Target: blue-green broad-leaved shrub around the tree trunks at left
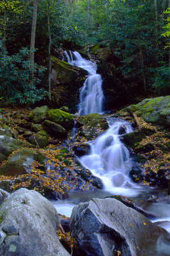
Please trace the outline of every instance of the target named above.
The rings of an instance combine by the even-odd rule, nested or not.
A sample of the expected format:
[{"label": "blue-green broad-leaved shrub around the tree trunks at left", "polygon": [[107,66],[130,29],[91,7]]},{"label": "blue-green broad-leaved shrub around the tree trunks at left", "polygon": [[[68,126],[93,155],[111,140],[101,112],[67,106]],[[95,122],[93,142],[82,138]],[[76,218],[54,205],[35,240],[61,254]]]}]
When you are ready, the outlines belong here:
[{"label": "blue-green broad-leaved shrub around the tree trunks at left", "polygon": [[22,48],[18,53],[10,56],[0,41],[0,97],[5,104],[33,104],[43,99],[44,90],[38,90],[36,85],[45,68],[34,65],[36,74],[32,84],[29,51]]}]

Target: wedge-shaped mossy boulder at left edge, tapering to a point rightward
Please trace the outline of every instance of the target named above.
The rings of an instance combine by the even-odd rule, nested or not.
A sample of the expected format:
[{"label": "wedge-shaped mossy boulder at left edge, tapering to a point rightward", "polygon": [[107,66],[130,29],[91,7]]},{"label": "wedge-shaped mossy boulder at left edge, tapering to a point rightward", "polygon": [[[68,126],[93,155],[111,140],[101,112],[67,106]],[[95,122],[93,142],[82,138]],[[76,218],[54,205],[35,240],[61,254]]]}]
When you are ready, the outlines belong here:
[{"label": "wedge-shaped mossy boulder at left edge, tapering to a point rightward", "polygon": [[3,154],[6,157],[10,156],[11,152],[14,150],[31,147],[34,147],[34,145],[25,141],[17,140],[9,136],[0,136],[0,154]]}]

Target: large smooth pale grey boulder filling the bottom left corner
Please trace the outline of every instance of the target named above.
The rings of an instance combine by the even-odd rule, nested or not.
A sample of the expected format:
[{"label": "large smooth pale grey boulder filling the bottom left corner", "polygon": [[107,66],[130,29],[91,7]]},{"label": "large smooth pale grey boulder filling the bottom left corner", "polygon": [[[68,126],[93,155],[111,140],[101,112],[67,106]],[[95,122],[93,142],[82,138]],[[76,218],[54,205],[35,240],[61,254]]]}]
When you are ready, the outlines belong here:
[{"label": "large smooth pale grey boulder filling the bottom left corner", "polygon": [[69,256],[57,237],[55,207],[36,191],[18,189],[0,208],[0,255]]}]

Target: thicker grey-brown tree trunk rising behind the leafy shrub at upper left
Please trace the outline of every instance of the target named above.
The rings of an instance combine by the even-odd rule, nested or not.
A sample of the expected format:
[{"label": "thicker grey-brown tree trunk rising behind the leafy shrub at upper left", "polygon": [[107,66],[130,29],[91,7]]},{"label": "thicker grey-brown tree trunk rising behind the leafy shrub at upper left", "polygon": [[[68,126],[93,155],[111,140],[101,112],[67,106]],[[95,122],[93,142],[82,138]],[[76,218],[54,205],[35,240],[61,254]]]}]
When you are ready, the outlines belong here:
[{"label": "thicker grey-brown tree trunk rising behind the leafy shrub at upper left", "polygon": [[[31,68],[34,67],[34,49],[35,49],[35,40],[36,40],[36,20],[37,20],[37,10],[38,10],[38,1],[34,0],[33,3],[33,14],[32,14],[32,29],[31,29],[31,46],[30,46],[30,62]],[[33,83],[34,71],[32,71],[31,81]]]}]

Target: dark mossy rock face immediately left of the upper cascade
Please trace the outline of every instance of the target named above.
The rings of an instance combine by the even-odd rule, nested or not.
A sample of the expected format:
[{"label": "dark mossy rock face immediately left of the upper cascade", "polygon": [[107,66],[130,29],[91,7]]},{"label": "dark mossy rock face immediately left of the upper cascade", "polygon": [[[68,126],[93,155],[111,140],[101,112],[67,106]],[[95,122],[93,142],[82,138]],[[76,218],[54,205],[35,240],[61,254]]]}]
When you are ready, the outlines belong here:
[{"label": "dark mossy rock face immediately left of the upper cascade", "polygon": [[52,106],[67,106],[76,112],[79,88],[83,86],[87,71],[73,67],[52,56]]}]

